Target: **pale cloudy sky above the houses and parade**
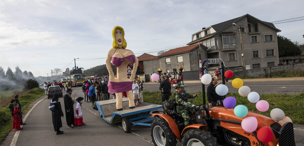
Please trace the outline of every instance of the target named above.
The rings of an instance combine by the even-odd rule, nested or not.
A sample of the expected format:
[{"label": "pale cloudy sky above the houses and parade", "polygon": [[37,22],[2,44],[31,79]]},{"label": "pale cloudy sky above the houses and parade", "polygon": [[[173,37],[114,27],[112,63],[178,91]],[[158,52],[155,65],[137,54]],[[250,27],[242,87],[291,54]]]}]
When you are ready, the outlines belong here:
[{"label": "pale cloudy sky above the houses and parade", "polygon": [[[267,22],[303,17],[302,6],[303,0],[1,0],[0,66],[50,76],[79,58],[76,66],[89,69],[105,64],[115,26],[125,30],[126,49],[156,55],[186,45],[203,27],[245,14]],[[303,22],[275,24],[277,34],[303,44]]]}]

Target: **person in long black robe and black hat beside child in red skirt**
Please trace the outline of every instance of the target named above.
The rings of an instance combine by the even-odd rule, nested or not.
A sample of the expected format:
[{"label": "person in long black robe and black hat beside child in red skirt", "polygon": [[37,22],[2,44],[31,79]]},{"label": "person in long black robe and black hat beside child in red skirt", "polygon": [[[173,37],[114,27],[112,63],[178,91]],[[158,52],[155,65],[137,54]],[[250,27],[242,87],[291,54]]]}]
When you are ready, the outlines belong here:
[{"label": "person in long black robe and black hat beside child in red skirt", "polygon": [[72,89],[68,88],[67,93],[64,95],[63,100],[64,100],[64,108],[65,108],[65,118],[67,120],[68,128],[73,128],[73,126],[78,126],[74,125],[74,107],[73,104],[75,103],[71,97],[72,95]]}]

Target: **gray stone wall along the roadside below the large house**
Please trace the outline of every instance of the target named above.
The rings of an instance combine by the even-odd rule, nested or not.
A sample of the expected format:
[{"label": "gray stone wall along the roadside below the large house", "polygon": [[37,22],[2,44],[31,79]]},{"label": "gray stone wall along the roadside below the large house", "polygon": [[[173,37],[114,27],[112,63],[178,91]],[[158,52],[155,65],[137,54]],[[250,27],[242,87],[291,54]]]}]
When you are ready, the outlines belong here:
[{"label": "gray stone wall along the roadside below the large house", "polygon": [[[247,70],[247,75],[251,77],[265,77],[267,74],[271,74],[271,72],[276,72],[281,70],[298,70],[298,69],[304,69],[304,63],[280,65],[280,66],[266,67],[259,69],[249,69]],[[231,71],[237,77],[244,76],[243,68],[235,68],[235,69],[231,69]]]}]

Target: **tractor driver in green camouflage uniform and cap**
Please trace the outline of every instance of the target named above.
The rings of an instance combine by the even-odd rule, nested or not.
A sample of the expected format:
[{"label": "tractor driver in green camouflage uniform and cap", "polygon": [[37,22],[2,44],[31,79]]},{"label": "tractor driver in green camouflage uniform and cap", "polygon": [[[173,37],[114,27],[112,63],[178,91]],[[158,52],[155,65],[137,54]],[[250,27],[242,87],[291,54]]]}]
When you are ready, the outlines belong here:
[{"label": "tractor driver in green camouflage uniform and cap", "polygon": [[190,104],[188,98],[197,98],[198,94],[190,95],[184,90],[184,85],[178,83],[174,88],[177,89],[175,95],[175,102],[177,104],[176,111],[184,118],[184,126],[188,126],[190,122],[189,113],[194,112],[195,109],[191,107],[195,106]]}]

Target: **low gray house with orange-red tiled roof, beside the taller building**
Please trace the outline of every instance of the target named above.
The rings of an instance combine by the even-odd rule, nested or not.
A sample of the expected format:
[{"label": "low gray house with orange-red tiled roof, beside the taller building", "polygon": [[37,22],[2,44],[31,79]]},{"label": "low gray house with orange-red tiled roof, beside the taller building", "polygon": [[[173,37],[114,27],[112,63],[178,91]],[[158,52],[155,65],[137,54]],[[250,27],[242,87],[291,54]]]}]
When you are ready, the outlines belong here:
[{"label": "low gray house with orange-red tiled roof, beside the taller building", "polygon": [[189,46],[171,49],[159,55],[160,68],[163,72],[179,72],[178,68],[183,67],[183,71],[198,71],[199,60],[207,58],[207,47],[198,43]]}]

